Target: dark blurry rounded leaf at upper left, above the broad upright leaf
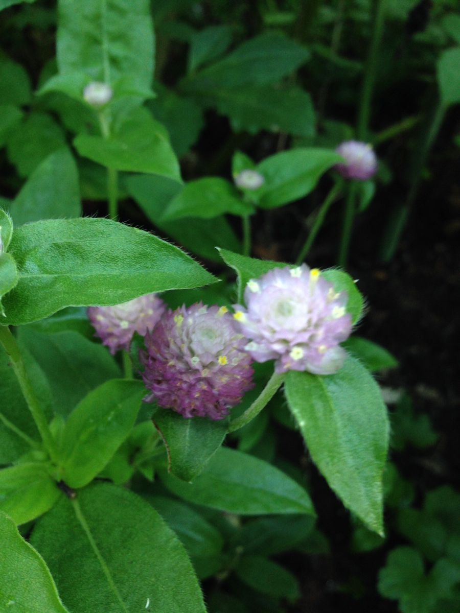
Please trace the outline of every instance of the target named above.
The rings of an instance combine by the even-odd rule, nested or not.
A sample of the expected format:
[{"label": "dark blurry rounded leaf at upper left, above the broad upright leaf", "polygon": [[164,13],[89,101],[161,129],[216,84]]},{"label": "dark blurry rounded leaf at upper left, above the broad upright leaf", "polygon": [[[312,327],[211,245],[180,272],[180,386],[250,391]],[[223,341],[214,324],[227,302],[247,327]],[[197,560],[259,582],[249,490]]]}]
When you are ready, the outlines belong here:
[{"label": "dark blurry rounded leaf at upper left, above the broad upright leaf", "polygon": [[7,138],[9,161],[28,177],[50,153],[66,145],[64,131],[47,113],[30,113]]}]

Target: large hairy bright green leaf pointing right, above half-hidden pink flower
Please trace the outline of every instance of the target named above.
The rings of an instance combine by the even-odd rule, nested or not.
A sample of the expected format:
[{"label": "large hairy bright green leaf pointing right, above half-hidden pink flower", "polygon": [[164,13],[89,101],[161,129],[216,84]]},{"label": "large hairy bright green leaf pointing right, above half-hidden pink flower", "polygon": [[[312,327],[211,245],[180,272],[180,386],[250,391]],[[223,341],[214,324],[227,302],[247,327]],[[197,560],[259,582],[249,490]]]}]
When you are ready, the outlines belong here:
[{"label": "large hairy bright green leaf pointing right, above half-hidden pink flower", "polygon": [[109,219],[36,221],[13,232],[19,270],[3,324],[19,326],[64,307],[114,305],[215,278],[176,247]]}]

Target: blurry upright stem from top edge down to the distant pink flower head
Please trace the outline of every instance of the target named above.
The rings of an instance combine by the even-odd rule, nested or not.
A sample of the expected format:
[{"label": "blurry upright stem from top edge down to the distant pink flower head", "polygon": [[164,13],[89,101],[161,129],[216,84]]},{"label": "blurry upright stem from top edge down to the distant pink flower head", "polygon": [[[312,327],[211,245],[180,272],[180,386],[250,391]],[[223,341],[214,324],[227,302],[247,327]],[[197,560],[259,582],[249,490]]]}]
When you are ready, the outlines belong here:
[{"label": "blurry upright stem from top edge down to the distant pink flower head", "polygon": [[386,0],[374,0],[372,32],[370,34],[369,52],[367,54],[366,67],[364,69],[364,80],[361,88],[361,100],[358,112],[358,140],[367,139],[369,129],[370,109],[372,104],[372,94],[374,93],[375,73],[379,57],[379,48],[383,26],[385,24]]}]

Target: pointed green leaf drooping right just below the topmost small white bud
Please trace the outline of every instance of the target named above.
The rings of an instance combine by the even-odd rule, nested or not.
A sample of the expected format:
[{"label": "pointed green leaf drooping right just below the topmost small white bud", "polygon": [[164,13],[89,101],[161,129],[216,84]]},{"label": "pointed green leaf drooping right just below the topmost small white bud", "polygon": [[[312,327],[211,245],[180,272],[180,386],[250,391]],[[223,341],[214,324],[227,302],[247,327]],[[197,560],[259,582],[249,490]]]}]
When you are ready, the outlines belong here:
[{"label": "pointed green leaf drooping right just below the topmost small white bud", "polygon": [[181,181],[167,132],[147,109],[134,109],[109,138],[79,134],[74,146],[83,158],[107,168],[151,172]]}]

